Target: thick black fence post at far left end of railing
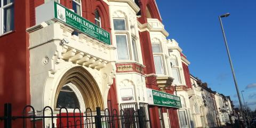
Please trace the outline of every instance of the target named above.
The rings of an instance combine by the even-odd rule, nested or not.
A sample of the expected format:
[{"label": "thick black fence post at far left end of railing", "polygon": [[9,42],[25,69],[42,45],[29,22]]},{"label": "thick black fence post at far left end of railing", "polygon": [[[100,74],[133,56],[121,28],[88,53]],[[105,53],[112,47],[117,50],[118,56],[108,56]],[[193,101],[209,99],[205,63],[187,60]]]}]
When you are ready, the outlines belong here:
[{"label": "thick black fence post at far left end of railing", "polygon": [[12,105],[11,103],[4,104],[4,128],[12,127]]}]

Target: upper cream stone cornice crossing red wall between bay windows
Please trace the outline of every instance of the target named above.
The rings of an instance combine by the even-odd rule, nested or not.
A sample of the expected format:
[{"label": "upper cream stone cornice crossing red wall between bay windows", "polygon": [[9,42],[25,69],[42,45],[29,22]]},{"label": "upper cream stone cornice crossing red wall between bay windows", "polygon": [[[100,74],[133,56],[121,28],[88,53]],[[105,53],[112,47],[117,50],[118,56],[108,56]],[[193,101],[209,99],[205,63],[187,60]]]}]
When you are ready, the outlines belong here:
[{"label": "upper cream stone cornice crossing red wall between bay windows", "polygon": [[164,28],[153,28],[149,23],[141,24],[139,21],[137,21],[137,24],[140,31],[160,31],[164,36],[169,36],[169,33]]}]

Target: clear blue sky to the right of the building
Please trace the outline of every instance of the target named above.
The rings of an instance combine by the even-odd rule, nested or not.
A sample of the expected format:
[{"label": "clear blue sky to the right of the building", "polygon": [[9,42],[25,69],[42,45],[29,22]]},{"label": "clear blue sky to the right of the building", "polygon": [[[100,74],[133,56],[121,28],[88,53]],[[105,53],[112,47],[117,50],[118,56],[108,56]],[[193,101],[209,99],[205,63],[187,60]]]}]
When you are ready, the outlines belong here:
[{"label": "clear blue sky to the right of the building", "polygon": [[[191,62],[190,74],[212,90],[230,95],[238,105],[218,16],[222,18],[239,91],[256,109],[256,1],[156,0],[169,38],[174,38]],[[246,86],[248,86],[246,88]],[[241,93],[240,93],[241,94]],[[241,95],[242,98],[242,95]],[[243,101],[242,101],[243,102]]]}]

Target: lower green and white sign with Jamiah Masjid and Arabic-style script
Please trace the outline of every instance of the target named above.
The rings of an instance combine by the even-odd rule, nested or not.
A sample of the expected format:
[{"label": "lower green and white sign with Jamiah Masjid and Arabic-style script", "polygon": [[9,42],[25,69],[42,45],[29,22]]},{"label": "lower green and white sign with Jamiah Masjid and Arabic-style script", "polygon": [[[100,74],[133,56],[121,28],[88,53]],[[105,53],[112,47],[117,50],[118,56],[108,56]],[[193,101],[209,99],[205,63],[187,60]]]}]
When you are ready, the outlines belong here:
[{"label": "lower green and white sign with Jamiah Masjid and Arabic-style script", "polygon": [[180,97],[169,93],[147,89],[148,104],[181,108]]}]

